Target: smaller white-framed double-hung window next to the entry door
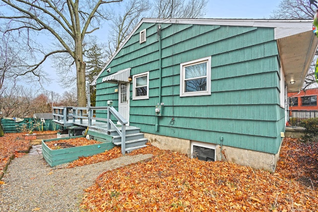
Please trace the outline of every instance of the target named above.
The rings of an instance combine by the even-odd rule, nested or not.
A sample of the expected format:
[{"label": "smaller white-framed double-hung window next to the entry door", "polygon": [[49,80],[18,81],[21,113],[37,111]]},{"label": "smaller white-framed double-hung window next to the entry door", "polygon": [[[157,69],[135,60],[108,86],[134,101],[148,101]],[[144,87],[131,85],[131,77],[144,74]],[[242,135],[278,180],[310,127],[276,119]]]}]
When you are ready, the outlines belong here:
[{"label": "smaller white-framed double-hung window next to the entry door", "polygon": [[133,99],[149,99],[149,71],[133,76]]}]

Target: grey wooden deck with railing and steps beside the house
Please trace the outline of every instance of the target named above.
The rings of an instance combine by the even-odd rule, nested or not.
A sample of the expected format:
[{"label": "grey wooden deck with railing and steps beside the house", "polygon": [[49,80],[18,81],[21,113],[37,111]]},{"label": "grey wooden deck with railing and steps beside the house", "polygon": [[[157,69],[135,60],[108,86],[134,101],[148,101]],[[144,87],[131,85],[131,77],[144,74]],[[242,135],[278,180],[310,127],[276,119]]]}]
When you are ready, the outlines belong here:
[{"label": "grey wooden deck with railing and steps beside the house", "polygon": [[[107,118],[96,117],[96,111],[104,113]],[[148,141],[140,132],[140,128],[126,126],[128,125],[127,120],[112,106],[53,107],[52,121],[63,126],[64,129],[68,128],[69,136],[76,135],[78,132],[75,130],[82,131],[86,128],[86,133],[95,140],[111,141],[115,145],[120,145],[122,154],[145,147]],[[76,129],[77,127],[81,129]]]}]

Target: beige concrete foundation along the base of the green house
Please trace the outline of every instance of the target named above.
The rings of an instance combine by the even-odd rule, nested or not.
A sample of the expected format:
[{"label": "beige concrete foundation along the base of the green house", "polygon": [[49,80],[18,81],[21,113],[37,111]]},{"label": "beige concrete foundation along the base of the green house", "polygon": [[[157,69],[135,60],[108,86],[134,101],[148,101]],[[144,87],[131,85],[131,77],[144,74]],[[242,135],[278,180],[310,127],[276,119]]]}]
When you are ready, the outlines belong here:
[{"label": "beige concrete foundation along the base of the green house", "polygon": [[[145,133],[145,138],[148,141],[160,148],[171,151],[177,151],[191,156],[191,141],[185,139],[178,139],[166,136],[159,136]],[[281,147],[280,147],[281,148]],[[216,160],[230,161],[243,166],[250,166],[254,169],[263,169],[271,173],[275,172],[276,164],[279,159],[279,152],[277,154],[241,149],[231,146],[216,145],[215,156]]]}]

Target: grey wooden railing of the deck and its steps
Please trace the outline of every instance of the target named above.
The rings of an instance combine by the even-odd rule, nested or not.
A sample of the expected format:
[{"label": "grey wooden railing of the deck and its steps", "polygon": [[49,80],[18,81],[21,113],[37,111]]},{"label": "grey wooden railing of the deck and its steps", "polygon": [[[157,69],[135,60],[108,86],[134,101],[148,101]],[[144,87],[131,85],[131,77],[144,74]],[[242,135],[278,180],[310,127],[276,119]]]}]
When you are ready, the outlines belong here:
[{"label": "grey wooden railing of the deck and its steps", "polygon": [[[95,117],[96,111],[107,111],[107,118]],[[115,117],[121,124],[121,130],[114,124],[111,117]],[[92,121],[99,121],[107,123],[107,131],[114,129],[121,137],[121,151],[125,154],[125,143],[126,143],[126,124],[127,120],[113,106],[106,107],[53,107],[53,120],[66,126],[70,124],[84,125],[84,120],[87,120],[87,127],[93,126]],[[79,121],[78,121],[79,120]]]}]

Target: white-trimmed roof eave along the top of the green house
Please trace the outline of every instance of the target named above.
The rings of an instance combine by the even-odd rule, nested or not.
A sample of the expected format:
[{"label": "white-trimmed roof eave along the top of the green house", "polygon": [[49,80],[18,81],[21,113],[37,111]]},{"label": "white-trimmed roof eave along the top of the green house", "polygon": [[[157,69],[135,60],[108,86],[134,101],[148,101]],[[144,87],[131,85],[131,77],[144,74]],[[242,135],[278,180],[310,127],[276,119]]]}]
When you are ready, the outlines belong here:
[{"label": "white-trimmed roof eave along the top of the green house", "polygon": [[[122,47],[127,43],[127,41],[132,37],[132,35],[136,32],[136,30],[144,23],[179,23],[179,24],[206,24],[206,25],[228,25],[228,26],[252,26],[252,27],[271,27],[275,30],[275,40],[277,40],[280,54],[287,54],[287,52],[283,49],[285,45],[284,39],[293,39],[293,36],[298,37],[298,41],[300,37],[306,35],[306,45],[303,48],[308,48],[308,52],[306,54],[305,60],[303,62],[303,68],[301,70],[301,74],[297,77],[297,83],[293,86],[289,86],[289,91],[295,90],[295,86],[297,85],[297,92],[301,89],[302,83],[305,80],[306,74],[309,70],[312,59],[317,50],[318,41],[317,38],[314,37],[312,33],[312,22],[313,20],[275,20],[275,19],[157,19],[157,18],[143,18],[138,25],[134,28],[134,30],[130,33],[128,38],[123,42],[120,48],[114,53],[114,55],[110,58],[110,60],[106,63],[105,67],[98,73],[98,75],[91,82],[91,85],[96,85],[98,77],[101,75],[103,71],[108,68],[111,61],[116,57],[118,52],[122,49]],[[310,39],[308,38],[309,33],[311,33]],[[290,40],[289,39],[289,40]],[[310,44],[310,45],[308,45]],[[295,43],[294,45],[300,45],[300,43]],[[291,48],[289,48],[291,49]],[[290,75],[290,71],[288,71],[289,60],[282,60],[282,66],[286,75],[286,82],[292,79]],[[300,87],[300,88],[299,88]],[[296,91],[295,91],[296,92]]]}]

